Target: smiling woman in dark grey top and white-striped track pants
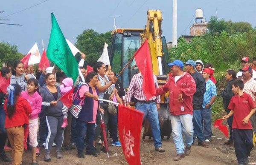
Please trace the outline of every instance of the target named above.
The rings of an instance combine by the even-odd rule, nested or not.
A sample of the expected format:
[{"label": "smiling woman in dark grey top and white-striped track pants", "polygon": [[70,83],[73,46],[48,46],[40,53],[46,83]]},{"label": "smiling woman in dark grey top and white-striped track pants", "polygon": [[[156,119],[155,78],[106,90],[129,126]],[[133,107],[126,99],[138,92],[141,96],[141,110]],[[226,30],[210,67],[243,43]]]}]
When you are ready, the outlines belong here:
[{"label": "smiling woman in dark grey top and white-striped track pants", "polygon": [[48,136],[45,144],[45,155],[44,161],[51,161],[50,151],[53,142],[56,143],[56,158],[62,158],[61,155],[61,145],[63,142],[63,131],[61,128],[63,122],[62,116],[62,102],[59,100],[61,98],[61,89],[56,83],[55,75],[48,73],[45,75],[45,81],[47,85],[44,85],[40,89],[42,97],[42,110],[46,113],[46,121],[48,127]]}]

